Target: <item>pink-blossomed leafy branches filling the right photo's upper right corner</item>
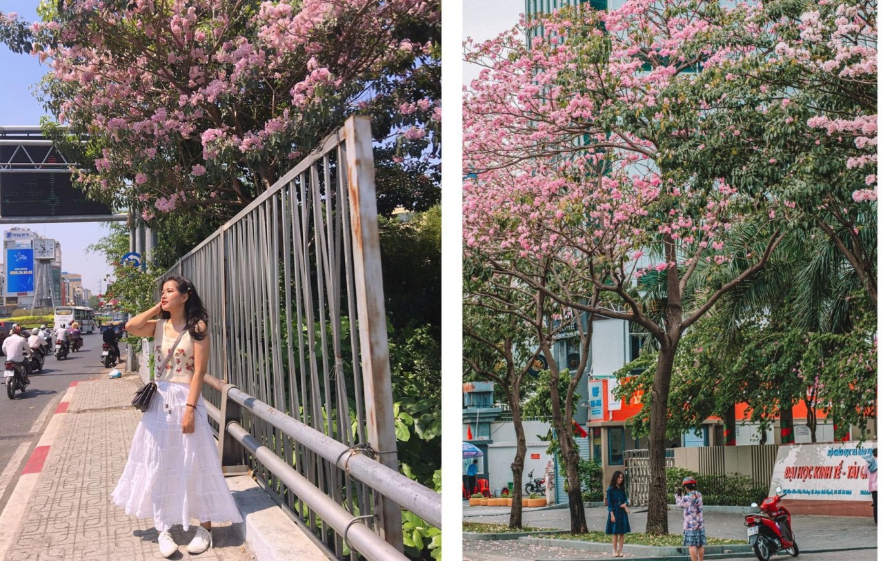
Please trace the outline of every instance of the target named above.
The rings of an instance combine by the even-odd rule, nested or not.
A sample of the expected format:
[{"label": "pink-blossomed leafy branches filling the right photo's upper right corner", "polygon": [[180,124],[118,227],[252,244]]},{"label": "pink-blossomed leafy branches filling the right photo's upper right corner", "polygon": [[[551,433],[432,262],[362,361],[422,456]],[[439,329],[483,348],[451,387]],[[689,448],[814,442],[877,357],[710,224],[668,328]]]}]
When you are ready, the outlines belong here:
[{"label": "pink-blossomed leafy branches filling the right photo's upper right corner", "polygon": [[877,216],[876,8],[826,0],[732,11],[711,40],[741,54],[692,82],[686,95],[708,110],[670,150],[704,180],[788,201],[789,228],[823,231],[873,302],[876,236],[862,231]]}]

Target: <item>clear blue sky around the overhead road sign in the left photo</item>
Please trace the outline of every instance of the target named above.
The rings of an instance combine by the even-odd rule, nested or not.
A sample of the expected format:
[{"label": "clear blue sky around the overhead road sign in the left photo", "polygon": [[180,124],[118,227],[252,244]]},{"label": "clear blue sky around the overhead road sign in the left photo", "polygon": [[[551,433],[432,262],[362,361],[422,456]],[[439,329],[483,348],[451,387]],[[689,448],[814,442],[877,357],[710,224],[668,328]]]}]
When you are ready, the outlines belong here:
[{"label": "clear blue sky around the overhead road sign in the left photo", "polygon": [[[39,0],[0,0],[0,11],[16,11],[26,21],[37,19]],[[34,84],[49,72],[30,55],[17,55],[0,44],[0,126],[39,125],[47,115],[34,98]],[[0,224],[0,231],[19,225],[23,228],[57,239],[62,247],[62,268],[83,276],[83,287],[93,293],[104,289],[104,277],[110,268],[103,256],[86,254],[86,246],[107,235],[107,229],[98,223],[76,224]]]}]

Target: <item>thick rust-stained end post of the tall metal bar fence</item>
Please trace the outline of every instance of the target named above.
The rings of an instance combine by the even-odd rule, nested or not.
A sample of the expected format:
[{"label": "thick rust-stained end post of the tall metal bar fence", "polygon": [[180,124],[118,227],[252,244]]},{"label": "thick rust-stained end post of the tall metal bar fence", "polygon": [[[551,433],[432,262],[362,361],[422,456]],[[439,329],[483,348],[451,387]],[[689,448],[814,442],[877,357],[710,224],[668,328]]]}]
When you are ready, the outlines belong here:
[{"label": "thick rust-stained end post of the tall metal bar fence", "polygon": [[[383,452],[378,457],[381,464],[398,471],[371,122],[366,117],[351,117],[346,120],[343,130],[346,135],[346,178],[350,195],[352,261],[365,381],[368,442],[375,450]],[[378,531],[390,545],[404,550],[399,505],[380,493],[374,493],[374,500]]]}]

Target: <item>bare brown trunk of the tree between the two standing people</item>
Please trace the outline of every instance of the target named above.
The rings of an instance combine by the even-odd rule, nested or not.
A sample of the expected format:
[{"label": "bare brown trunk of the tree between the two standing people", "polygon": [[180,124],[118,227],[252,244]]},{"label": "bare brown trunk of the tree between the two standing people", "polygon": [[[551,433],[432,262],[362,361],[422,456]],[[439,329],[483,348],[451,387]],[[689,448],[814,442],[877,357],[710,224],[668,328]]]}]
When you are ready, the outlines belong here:
[{"label": "bare brown trunk of the tree between the two standing people", "polygon": [[647,501],[647,534],[668,534],[665,493],[665,435],[668,425],[668,391],[676,345],[660,346],[659,361],[650,394],[650,497]]}]

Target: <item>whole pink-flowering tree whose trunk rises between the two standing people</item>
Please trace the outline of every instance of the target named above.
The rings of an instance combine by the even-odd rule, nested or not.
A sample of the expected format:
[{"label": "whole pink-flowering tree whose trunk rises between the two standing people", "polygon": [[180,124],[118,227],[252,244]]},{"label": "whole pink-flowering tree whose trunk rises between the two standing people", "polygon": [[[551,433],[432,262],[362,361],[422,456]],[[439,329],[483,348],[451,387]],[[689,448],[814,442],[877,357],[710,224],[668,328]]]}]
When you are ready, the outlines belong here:
[{"label": "whole pink-flowering tree whose trunk rises between the two standing people", "polygon": [[[774,73],[776,47],[740,40],[781,32],[774,9],[765,10],[630,0],[599,12],[584,4],[523,20],[481,45],[467,42],[467,59],[485,67],[464,102],[464,164],[477,177],[464,185],[467,253],[534,288],[540,263],[554,256],[559,277],[543,287],[551,298],[638,323],[659,345],[648,396],[649,533],[668,529],[666,406],[684,330],[763,269],[807,213],[824,209],[793,196],[793,182],[759,180],[776,165],[772,157],[761,166],[745,156],[762,145],[770,118],[753,118],[758,130],[746,133],[743,115],[789,107],[757,97],[768,93],[763,80],[726,80],[736,64]],[[825,135],[820,122],[806,118],[802,128]],[[875,131],[863,131],[864,143],[819,146],[841,158],[841,170],[857,170],[851,153],[875,141]],[[817,180],[806,188],[824,191],[824,171],[811,173]],[[844,187],[849,197],[838,202],[869,204],[867,194],[852,196],[865,181]],[[602,294],[595,305],[586,297],[592,289]]]}]

